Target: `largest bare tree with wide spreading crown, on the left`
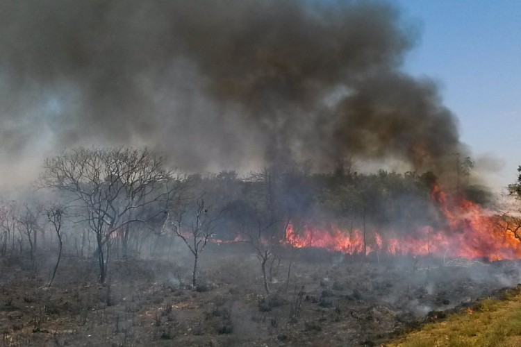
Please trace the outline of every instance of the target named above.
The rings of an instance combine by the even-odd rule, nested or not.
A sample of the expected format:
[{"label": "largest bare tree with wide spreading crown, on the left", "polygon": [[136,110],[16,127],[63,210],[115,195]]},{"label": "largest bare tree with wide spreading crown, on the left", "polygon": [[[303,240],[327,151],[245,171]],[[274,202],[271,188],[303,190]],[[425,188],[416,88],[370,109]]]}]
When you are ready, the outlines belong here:
[{"label": "largest bare tree with wide spreading crown, on the left", "polygon": [[85,149],[47,158],[40,186],[69,193],[77,222],[87,223],[97,242],[99,280],[105,282],[110,239],[122,237],[131,223],[164,213],[182,179],[165,167],[165,159],[147,149]]}]

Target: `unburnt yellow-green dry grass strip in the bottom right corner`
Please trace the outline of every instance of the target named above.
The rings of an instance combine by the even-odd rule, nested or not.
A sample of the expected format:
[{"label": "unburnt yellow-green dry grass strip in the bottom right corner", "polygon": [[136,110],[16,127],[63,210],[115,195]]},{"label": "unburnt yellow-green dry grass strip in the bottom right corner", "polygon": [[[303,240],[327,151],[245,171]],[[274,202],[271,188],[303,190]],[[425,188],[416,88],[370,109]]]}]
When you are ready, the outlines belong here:
[{"label": "unburnt yellow-green dry grass strip in the bottom right corner", "polygon": [[521,346],[521,291],[501,300],[483,300],[445,321],[422,325],[387,346]]}]

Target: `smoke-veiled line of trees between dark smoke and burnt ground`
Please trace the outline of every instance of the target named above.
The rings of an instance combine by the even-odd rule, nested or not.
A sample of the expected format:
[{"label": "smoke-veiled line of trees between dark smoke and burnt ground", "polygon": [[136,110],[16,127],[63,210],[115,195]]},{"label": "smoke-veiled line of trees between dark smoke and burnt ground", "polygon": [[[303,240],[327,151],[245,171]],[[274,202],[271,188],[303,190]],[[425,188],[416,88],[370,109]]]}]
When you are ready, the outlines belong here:
[{"label": "smoke-veiled line of trees between dark smoke and burnt ground", "polygon": [[[168,254],[165,247],[177,237],[194,256],[197,285],[199,255],[208,242],[240,237],[258,255],[269,291],[267,266],[284,245],[289,223],[297,233],[309,225],[356,228],[363,230],[364,243],[366,230],[385,236],[386,230],[436,226],[443,223],[430,196],[436,184],[431,172],[357,174],[339,168],[317,174],[306,164],[245,176],[188,175],[147,149],[72,149],[45,160],[38,198],[3,201],[0,256],[28,255],[36,267],[40,247],[60,255],[63,248],[94,257],[104,282],[110,259],[158,255],[158,249]],[[486,197],[472,187],[462,192]],[[374,242],[367,234],[367,243]],[[58,264],[59,257],[55,273]]]}]

